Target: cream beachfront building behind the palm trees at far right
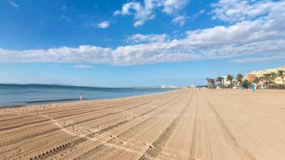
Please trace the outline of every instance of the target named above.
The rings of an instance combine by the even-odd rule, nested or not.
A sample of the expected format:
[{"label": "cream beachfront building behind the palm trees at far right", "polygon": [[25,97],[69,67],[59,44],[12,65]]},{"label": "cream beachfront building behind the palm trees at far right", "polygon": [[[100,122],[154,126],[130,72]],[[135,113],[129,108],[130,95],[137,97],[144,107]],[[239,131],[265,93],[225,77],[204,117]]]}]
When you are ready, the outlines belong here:
[{"label": "cream beachfront building behind the palm trees at far right", "polygon": [[[278,70],[282,70],[285,73],[285,65],[280,67],[280,68],[270,68],[270,69],[252,71],[251,73],[249,73],[245,77],[247,78],[247,80],[249,80],[249,82],[253,82],[256,78],[259,78],[260,79],[259,83],[261,85],[264,85],[264,82],[266,82],[266,78],[264,78],[265,75],[270,75],[271,73],[278,74]],[[277,76],[272,81],[276,85],[282,85],[283,84],[283,79],[281,78],[281,76]]]}]

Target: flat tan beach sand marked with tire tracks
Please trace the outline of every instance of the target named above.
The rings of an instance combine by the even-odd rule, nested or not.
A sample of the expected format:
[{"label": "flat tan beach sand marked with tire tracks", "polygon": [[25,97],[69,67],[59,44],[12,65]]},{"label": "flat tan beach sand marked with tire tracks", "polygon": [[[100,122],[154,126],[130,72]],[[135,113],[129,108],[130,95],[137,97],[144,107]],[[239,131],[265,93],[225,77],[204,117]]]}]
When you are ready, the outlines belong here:
[{"label": "flat tan beach sand marked with tire tracks", "polygon": [[284,90],[180,90],[0,110],[0,159],[285,159]]}]

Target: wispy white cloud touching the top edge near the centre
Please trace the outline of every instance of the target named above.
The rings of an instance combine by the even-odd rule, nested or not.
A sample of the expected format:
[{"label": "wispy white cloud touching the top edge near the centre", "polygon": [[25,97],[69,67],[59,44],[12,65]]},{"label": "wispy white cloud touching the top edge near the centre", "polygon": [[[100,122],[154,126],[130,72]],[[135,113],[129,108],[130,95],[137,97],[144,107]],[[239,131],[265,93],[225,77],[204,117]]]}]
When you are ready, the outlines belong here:
[{"label": "wispy white cloud touching the top edge near the centre", "polygon": [[187,4],[188,0],[144,0],[143,4],[137,1],[123,4],[121,10],[114,15],[135,15],[134,26],[143,25],[146,21],[155,18],[155,9],[161,9],[166,14],[177,14]]}]

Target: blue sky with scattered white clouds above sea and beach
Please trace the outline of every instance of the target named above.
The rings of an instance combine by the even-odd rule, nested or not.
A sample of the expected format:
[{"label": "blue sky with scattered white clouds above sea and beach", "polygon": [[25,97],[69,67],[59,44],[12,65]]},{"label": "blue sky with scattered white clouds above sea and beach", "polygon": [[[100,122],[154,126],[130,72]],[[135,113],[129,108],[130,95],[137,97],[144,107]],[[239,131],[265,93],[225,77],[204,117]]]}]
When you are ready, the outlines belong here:
[{"label": "blue sky with scattered white clouds above sea and beach", "polygon": [[285,1],[0,1],[0,82],[201,85],[285,63]]}]

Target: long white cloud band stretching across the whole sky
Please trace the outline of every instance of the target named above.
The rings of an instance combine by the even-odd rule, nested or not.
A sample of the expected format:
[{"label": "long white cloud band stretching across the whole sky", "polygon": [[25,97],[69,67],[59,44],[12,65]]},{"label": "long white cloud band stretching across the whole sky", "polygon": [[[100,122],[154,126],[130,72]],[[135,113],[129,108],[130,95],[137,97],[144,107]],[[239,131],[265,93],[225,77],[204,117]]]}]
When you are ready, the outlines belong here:
[{"label": "long white cloud band stretching across the whole sky", "polygon": [[180,39],[170,39],[163,34],[137,34],[129,40],[140,44],[117,48],[0,49],[0,61],[143,65],[214,58],[242,59],[244,56],[252,60],[285,57],[285,7],[284,1],[278,3],[263,16],[229,26],[187,31],[187,36]]}]

